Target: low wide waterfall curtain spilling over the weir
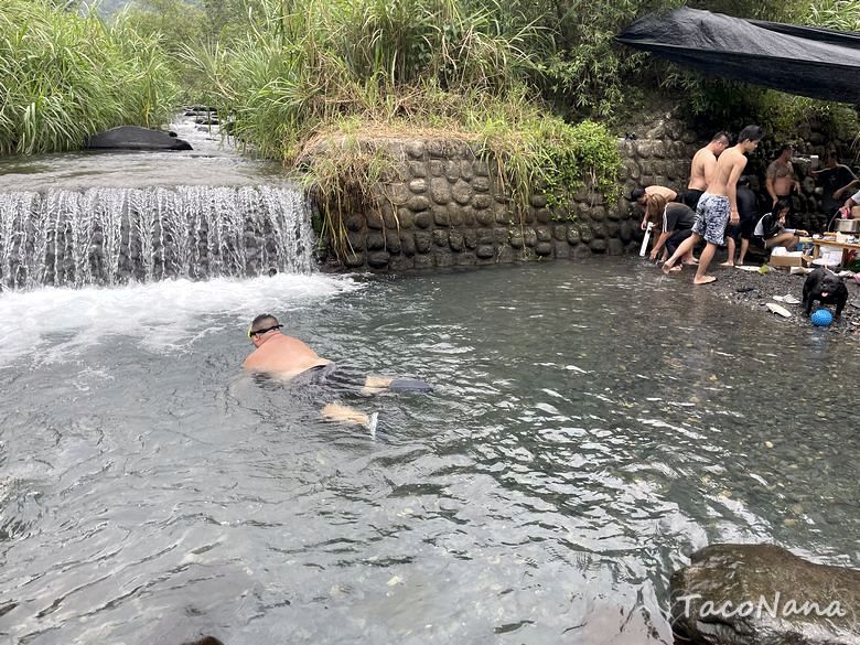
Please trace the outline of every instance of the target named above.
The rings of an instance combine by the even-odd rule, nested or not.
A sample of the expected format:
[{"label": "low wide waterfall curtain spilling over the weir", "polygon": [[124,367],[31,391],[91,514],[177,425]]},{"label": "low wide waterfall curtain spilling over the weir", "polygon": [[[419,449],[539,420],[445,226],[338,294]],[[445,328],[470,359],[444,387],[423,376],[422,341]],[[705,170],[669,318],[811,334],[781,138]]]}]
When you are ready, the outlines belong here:
[{"label": "low wide waterfall curtain spilling over the weir", "polygon": [[313,230],[289,187],[0,193],[0,283],[82,287],[307,273]]}]

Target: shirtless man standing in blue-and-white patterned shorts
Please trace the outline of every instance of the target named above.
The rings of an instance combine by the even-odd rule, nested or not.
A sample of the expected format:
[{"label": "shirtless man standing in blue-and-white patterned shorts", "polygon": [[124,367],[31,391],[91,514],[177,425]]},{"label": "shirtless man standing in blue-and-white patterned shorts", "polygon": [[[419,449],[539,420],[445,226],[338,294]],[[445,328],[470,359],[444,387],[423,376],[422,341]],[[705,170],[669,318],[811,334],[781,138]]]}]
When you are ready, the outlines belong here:
[{"label": "shirtless man standing in blue-and-white patterned shorts", "polygon": [[725,225],[729,222],[732,224],[740,222],[735,194],[738,179],[743,173],[743,169],[746,168],[745,155],[755,150],[762,137],[764,137],[764,131],[759,126],[746,126],[738,135],[738,143],[720,154],[708,191],[701,196],[696,208],[696,224],[692,226],[692,235],[685,239],[663,265],[665,273],[680,270],[680,267],[675,269],[675,262],[692,249],[701,238],[705,238],[707,244],[699,257],[699,267],[692,283],[709,284],[717,280],[714,276],[708,276],[708,265],[711,264],[717,247],[723,244]]}]

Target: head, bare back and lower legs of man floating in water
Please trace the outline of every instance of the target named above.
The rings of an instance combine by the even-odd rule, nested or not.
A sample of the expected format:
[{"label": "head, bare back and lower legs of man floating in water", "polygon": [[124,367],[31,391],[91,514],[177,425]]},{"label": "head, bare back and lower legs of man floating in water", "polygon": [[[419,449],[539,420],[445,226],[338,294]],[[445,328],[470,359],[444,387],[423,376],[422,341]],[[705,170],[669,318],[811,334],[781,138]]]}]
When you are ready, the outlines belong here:
[{"label": "head, bare back and lower legs of man floating in water", "polygon": [[[278,319],[262,313],[251,321],[248,337],[256,347],[243,362],[244,369],[261,372],[275,378],[287,381],[299,375],[318,375],[324,378],[334,369],[334,363],[323,358],[299,338],[282,333],[283,327]],[[389,378],[367,376],[364,381],[365,393],[377,393],[385,389],[429,391],[431,387],[422,380],[409,378]],[[345,421],[372,427],[375,415],[365,415],[353,408],[338,404],[329,404],[322,410],[323,416],[332,421]]]}]

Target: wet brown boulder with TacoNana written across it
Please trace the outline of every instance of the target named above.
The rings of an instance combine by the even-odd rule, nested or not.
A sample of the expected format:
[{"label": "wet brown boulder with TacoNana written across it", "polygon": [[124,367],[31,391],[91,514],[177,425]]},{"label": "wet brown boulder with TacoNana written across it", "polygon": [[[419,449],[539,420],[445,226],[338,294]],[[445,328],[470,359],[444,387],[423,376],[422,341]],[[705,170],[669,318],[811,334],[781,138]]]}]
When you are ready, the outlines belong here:
[{"label": "wet brown boulder with TacoNana written across it", "polygon": [[713,545],[671,576],[677,643],[860,645],[860,571],[773,545]]}]

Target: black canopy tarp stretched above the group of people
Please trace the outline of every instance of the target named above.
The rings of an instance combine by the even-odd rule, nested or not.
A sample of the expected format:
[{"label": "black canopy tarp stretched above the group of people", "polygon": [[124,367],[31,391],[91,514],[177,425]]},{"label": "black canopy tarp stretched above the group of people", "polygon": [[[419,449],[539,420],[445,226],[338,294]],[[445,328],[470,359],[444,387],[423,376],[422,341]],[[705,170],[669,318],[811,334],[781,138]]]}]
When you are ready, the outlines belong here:
[{"label": "black canopy tarp stretched above the group of people", "polygon": [[682,8],[648,14],[619,42],[706,74],[860,105],[860,34]]}]

